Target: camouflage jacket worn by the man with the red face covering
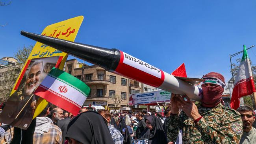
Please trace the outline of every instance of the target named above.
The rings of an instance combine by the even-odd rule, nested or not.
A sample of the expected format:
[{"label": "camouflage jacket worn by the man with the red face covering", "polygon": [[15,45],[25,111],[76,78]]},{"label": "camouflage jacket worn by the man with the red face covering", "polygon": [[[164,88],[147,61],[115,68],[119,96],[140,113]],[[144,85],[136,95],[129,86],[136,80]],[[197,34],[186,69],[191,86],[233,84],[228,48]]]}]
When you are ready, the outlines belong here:
[{"label": "camouflage jacket worn by the man with the red face covering", "polygon": [[167,137],[175,142],[182,129],[182,142],[187,144],[239,144],[243,133],[240,114],[221,103],[214,108],[197,106],[203,116],[196,124],[183,111],[167,120]]}]

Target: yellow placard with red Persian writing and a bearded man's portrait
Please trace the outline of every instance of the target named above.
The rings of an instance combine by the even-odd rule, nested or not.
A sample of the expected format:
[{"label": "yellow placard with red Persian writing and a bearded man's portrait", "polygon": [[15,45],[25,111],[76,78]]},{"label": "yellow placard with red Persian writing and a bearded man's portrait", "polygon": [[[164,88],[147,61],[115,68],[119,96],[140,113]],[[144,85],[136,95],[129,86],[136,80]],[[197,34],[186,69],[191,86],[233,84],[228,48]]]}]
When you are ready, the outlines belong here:
[{"label": "yellow placard with red Persian writing and a bearded man's portrait", "polygon": [[[49,25],[41,35],[74,41],[82,21],[83,16],[79,16]],[[0,115],[0,122],[27,129],[32,118],[48,104],[46,100],[35,96],[34,90],[54,66],[63,69],[67,56],[65,52],[36,42]]]}]

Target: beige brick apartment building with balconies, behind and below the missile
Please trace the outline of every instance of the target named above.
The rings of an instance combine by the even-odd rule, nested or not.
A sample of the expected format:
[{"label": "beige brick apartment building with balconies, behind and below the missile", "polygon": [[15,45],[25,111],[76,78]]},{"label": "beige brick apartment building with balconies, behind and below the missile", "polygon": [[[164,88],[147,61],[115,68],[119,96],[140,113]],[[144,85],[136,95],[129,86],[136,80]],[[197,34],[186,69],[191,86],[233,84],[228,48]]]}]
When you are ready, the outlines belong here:
[{"label": "beige brick apartment building with balconies, behind and below the missile", "polygon": [[108,72],[96,65],[79,63],[76,59],[66,61],[65,72],[81,79],[91,88],[84,105],[102,105],[111,110],[116,106],[111,96],[119,95],[122,102],[117,107],[128,110],[129,108],[123,107],[128,107],[129,94],[141,92],[141,84],[138,81]]}]

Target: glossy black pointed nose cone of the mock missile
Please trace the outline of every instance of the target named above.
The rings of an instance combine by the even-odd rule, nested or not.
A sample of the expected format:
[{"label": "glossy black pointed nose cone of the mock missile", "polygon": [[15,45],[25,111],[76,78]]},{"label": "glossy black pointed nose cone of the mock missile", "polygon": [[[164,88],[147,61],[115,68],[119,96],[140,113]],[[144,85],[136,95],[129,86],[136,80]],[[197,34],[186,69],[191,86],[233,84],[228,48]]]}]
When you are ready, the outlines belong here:
[{"label": "glossy black pointed nose cone of the mock missile", "polygon": [[20,31],[20,34],[66,52],[74,57],[88,61],[89,63],[98,65],[109,71],[114,71],[120,61],[120,51],[117,49],[101,48],[98,46],[47,37],[26,31]]}]

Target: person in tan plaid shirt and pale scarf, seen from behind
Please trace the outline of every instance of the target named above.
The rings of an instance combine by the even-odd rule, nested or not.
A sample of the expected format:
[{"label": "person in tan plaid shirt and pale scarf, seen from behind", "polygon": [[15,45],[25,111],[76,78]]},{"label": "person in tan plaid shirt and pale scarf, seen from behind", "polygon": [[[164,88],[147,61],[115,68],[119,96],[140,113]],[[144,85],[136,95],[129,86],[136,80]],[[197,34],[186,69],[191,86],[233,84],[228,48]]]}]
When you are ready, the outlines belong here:
[{"label": "person in tan plaid shirt and pale scarf, seen from behind", "polygon": [[[54,125],[52,120],[46,117],[48,107],[37,116],[35,131],[33,133],[33,144],[62,144],[61,129]],[[13,127],[6,131],[0,139],[1,144],[9,144],[13,139]]]}]

